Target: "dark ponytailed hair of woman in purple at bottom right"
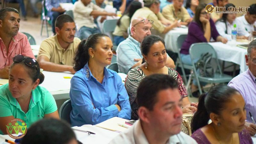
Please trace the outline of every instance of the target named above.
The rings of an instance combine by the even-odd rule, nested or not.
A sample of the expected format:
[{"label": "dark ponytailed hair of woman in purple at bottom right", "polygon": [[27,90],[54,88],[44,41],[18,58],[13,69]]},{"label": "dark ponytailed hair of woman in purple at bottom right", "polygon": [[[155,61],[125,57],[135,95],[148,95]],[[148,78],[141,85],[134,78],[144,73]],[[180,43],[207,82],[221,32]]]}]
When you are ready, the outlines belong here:
[{"label": "dark ponytailed hair of woman in purple at bottom right", "polygon": [[199,97],[198,108],[191,122],[192,132],[208,124],[210,114],[220,115],[225,109],[225,103],[228,102],[235,93],[236,89],[226,85],[217,85],[212,87],[208,93]]}]

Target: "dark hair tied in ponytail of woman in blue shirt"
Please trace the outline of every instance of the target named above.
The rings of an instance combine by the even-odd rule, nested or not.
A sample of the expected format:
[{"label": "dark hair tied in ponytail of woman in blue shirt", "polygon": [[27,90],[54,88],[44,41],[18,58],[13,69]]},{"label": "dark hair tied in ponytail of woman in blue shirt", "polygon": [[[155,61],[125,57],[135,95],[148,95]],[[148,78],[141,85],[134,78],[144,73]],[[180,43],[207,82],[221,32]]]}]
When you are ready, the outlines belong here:
[{"label": "dark hair tied in ponytail of woman in blue shirt", "polygon": [[75,57],[74,57],[74,70],[79,71],[84,68],[84,65],[89,61],[89,48],[95,49],[96,44],[99,42],[100,38],[107,36],[106,34],[92,34],[87,39],[80,42],[77,47]]}]

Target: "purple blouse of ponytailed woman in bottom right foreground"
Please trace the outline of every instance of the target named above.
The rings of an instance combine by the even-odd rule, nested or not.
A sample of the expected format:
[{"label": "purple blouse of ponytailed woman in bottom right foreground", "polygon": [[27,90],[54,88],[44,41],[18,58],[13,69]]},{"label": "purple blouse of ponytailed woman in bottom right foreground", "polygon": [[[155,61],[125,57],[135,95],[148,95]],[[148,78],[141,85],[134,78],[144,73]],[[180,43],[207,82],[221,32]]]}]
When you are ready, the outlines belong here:
[{"label": "purple blouse of ponytailed woman in bottom right foreground", "polygon": [[[253,144],[252,138],[246,130],[238,133],[240,144]],[[206,138],[204,132],[201,129],[196,130],[191,137],[196,140],[198,144],[211,144],[211,142]]]}]

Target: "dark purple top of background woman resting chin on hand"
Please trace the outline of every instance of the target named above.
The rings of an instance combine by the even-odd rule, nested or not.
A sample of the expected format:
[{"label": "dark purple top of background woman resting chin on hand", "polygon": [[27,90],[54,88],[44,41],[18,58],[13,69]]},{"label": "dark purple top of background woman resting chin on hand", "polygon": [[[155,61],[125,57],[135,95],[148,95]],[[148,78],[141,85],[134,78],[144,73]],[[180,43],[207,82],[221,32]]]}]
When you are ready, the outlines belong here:
[{"label": "dark purple top of background woman resting chin on hand", "polygon": [[[218,33],[212,19],[210,19],[210,25],[211,37],[216,41],[217,36],[220,36],[220,34]],[[206,38],[204,37],[204,31],[200,28],[199,24],[197,24],[195,21],[192,21],[188,26],[188,36],[181,46],[180,53],[189,54],[190,45],[201,42],[207,42]]]}]

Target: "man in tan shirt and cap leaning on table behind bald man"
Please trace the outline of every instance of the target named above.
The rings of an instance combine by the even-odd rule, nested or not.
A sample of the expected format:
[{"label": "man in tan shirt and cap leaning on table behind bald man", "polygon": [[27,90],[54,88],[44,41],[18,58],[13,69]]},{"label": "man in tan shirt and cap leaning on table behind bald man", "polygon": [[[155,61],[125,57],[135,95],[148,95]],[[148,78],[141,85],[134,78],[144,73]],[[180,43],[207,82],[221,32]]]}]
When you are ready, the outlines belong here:
[{"label": "man in tan shirt and cap leaning on table behind bald man", "polygon": [[[177,27],[179,24],[177,20],[171,24],[170,20],[164,18],[160,12],[160,1],[159,0],[144,0],[144,7],[138,9],[133,15],[132,19],[137,17],[146,18],[153,20],[153,28],[156,29],[160,34],[165,34],[172,28]],[[164,26],[166,25],[166,27]]]}]

